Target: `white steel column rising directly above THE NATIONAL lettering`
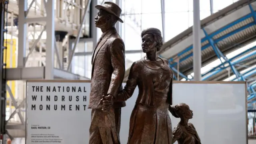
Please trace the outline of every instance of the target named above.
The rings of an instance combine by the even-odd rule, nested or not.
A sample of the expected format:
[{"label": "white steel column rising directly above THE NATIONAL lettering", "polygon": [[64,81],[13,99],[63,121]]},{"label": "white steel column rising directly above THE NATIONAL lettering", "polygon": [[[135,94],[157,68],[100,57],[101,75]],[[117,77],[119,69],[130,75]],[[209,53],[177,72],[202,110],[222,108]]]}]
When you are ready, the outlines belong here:
[{"label": "white steel column rising directly above THE NATIONAL lettering", "polygon": [[46,2],[46,66],[45,79],[52,80],[54,78],[54,0]]}]

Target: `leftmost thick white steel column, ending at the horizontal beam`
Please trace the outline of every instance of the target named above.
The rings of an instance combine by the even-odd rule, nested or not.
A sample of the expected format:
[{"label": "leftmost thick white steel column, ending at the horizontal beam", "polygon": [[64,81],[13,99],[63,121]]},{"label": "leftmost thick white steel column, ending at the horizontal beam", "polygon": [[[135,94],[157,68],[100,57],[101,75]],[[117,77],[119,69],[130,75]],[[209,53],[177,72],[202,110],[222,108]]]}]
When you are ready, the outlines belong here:
[{"label": "leftmost thick white steel column, ending at the horizontal beam", "polygon": [[19,16],[18,16],[18,68],[24,67],[24,58],[26,58],[26,38],[27,38],[27,24],[25,12],[27,11],[27,0],[19,1]]}]

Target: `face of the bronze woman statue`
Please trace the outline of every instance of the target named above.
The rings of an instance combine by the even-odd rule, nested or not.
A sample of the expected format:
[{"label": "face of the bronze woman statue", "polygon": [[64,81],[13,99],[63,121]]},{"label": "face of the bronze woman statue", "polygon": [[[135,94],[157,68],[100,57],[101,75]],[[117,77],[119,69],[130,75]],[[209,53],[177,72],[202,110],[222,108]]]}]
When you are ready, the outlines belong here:
[{"label": "face of the bronze woman statue", "polygon": [[156,52],[156,42],[152,34],[145,34],[142,36],[142,51],[147,52]]}]

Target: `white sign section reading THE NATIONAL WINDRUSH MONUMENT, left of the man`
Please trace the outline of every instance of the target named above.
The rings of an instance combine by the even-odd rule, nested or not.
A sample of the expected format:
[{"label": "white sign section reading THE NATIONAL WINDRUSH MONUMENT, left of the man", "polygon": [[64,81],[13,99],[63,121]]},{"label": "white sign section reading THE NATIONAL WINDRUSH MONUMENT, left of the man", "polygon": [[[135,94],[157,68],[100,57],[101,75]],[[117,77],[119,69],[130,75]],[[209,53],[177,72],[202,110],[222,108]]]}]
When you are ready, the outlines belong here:
[{"label": "white sign section reading THE NATIONAL WINDRUSH MONUMENT, left of the man", "polygon": [[86,144],[90,83],[28,82],[26,144]]}]

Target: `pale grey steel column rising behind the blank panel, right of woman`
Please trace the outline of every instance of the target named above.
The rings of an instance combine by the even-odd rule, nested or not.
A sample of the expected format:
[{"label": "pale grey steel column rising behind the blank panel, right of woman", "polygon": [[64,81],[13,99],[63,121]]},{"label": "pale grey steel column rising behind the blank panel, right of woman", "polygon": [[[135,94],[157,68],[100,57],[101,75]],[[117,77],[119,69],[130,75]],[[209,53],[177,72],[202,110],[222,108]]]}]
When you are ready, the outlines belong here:
[{"label": "pale grey steel column rising behind the blank panel, right of woman", "polygon": [[194,80],[201,80],[200,0],[193,0],[193,71]]}]

